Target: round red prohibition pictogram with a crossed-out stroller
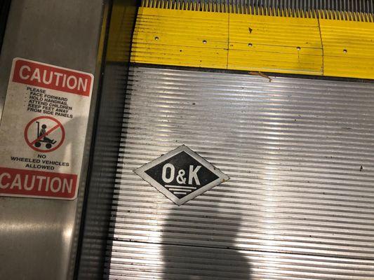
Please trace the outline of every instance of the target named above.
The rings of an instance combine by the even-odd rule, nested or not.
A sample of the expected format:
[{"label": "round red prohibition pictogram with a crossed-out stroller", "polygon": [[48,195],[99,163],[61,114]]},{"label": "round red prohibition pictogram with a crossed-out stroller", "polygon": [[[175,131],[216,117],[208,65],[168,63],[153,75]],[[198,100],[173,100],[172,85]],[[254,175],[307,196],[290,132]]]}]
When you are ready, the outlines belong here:
[{"label": "round red prohibition pictogram with a crossed-out stroller", "polygon": [[48,153],[57,150],[65,139],[62,124],[50,116],[34,118],[25,127],[25,141],[34,151]]}]

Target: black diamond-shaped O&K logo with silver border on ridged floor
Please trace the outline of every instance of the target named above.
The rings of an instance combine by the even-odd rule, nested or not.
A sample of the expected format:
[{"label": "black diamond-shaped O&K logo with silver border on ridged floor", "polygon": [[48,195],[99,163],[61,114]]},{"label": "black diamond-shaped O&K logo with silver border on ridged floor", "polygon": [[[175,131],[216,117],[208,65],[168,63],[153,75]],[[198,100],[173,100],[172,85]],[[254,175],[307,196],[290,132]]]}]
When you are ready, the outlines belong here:
[{"label": "black diamond-shaped O&K logo with silver border on ridged floor", "polygon": [[227,175],[185,145],[134,172],[178,205],[229,180]]}]

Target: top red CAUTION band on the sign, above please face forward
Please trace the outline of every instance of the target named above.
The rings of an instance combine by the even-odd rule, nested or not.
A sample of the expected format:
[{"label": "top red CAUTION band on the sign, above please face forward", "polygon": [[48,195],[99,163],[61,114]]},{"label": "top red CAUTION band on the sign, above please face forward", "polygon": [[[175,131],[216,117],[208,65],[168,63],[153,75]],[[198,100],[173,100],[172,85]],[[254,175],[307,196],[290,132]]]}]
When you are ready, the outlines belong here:
[{"label": "top red CAUTION band on the sign, above please face forward", "polygon": [[80,71],[17,59],[13,82],[89,96],[93,76]]}]

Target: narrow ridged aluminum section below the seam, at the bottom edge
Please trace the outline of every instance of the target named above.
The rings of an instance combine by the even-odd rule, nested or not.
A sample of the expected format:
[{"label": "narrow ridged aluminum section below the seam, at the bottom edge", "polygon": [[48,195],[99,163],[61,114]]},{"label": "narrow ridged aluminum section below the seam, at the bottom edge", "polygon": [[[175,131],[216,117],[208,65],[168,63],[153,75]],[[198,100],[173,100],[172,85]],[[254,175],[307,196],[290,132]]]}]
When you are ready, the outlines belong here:
[{"label": "narrow ridged aluminum section below the seam, at the bottom edge", "polygon": [[[114,241],[109,279],[373,279],[373,262]],[[167,255],[167,256],[166,256]],[[165,262],[168,262],[168,266]]]}]

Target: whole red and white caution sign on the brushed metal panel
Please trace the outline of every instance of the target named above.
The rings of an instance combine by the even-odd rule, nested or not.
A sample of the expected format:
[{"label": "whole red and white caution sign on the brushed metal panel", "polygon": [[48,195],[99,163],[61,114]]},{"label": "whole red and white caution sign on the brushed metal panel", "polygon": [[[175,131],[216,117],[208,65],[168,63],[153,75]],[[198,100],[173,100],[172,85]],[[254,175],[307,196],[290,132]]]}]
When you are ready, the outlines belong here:
[{"label": "whole red and white caution sign on the brushed metal panel", "polygon": [[93,75],[13,59],[0,123],[0,195],[74,200]]}]

